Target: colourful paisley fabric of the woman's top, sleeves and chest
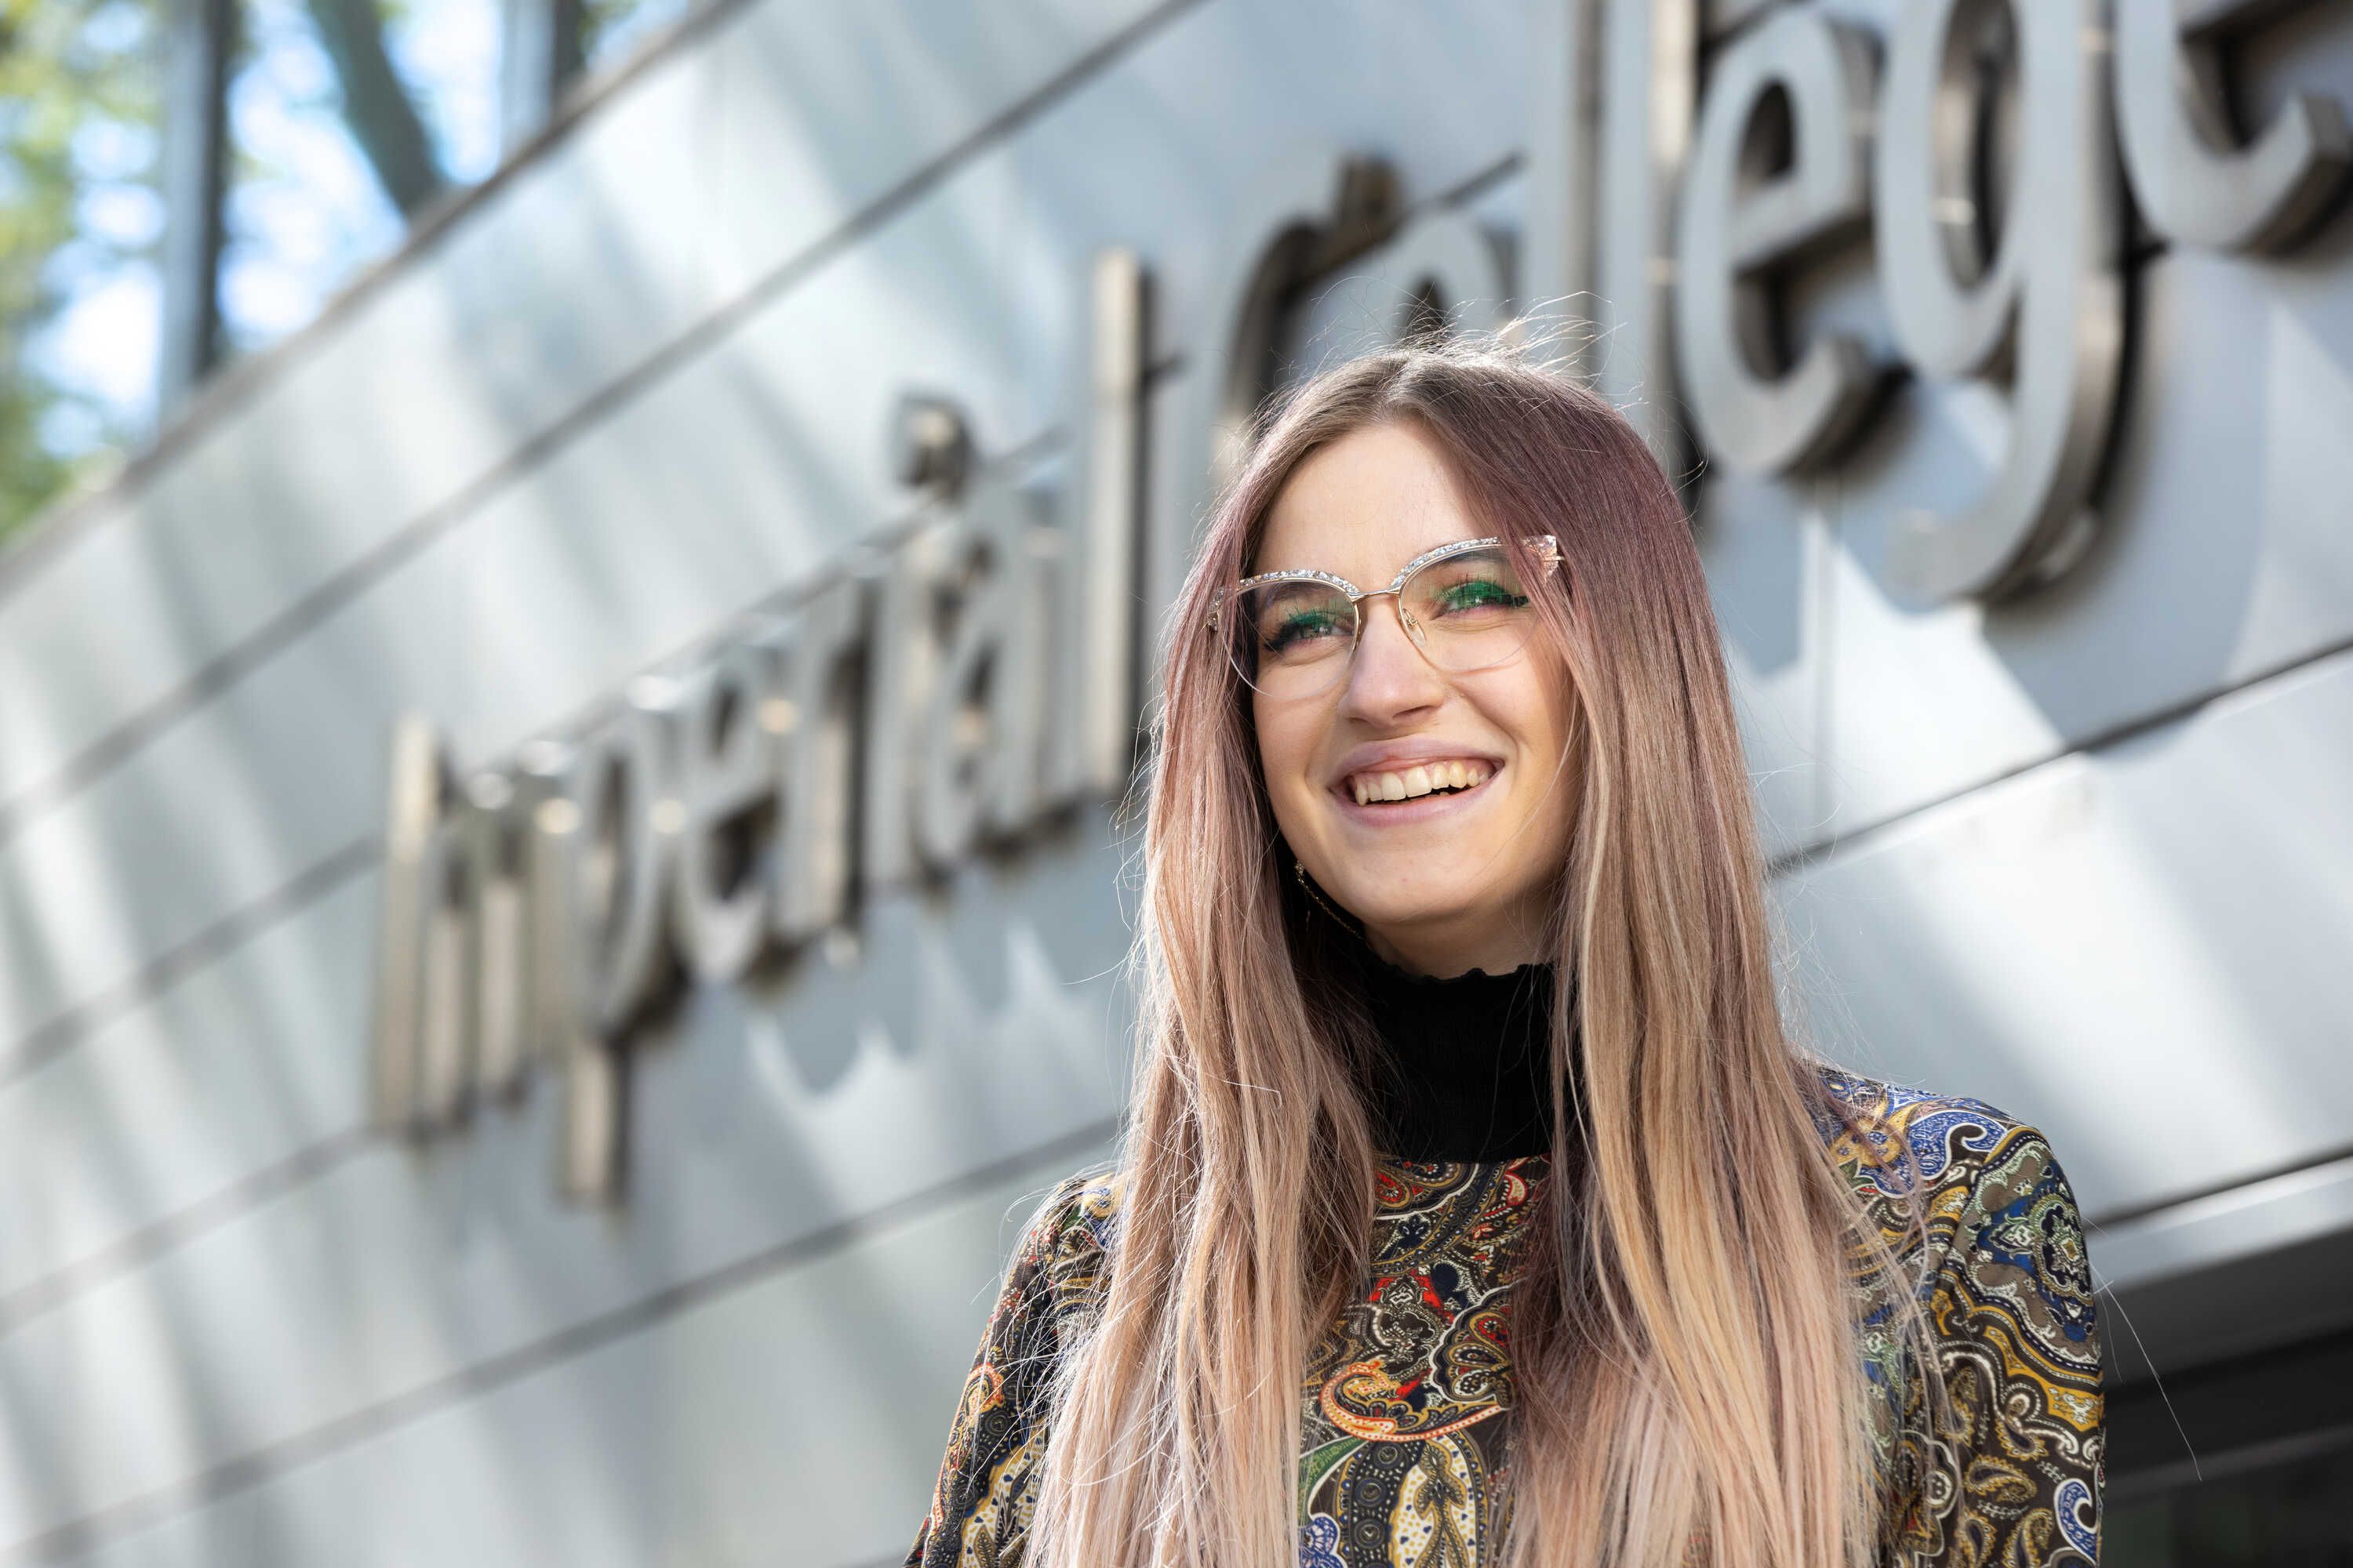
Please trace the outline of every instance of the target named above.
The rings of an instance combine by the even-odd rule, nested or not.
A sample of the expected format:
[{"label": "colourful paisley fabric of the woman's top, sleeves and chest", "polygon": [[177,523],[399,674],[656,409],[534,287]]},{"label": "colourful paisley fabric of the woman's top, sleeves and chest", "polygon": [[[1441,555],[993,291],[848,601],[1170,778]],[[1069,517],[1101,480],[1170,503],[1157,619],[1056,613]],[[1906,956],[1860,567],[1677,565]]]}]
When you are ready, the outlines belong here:
[{"label": "colourful paisley fabric of the woman's top, sleeves and chest", "polygon": [[[1887,1389],[1880,1561],[2040,1568],[2099,1561],[2101,1352],[2073,1192],[2042,1133],[1979,1100],[1824,1070],[1821,1135],[1927,1305],[1946,1401],[1927,1408],[1885,1279],[1864,1356]],[[1508,1528],[1511,1284],[1546,1157],[1381,1161],[1362,1291],[1301,1385],[1304,1568],[1485,1568]],[[1908,1225],[1922,1182],[1927,1241]],[[1108,1267],[1115,1175],[1064,1180],[1007,1269],[906,1568],[1019,1568],[1045,1450],[1038,1413]],[[1692,1561],[1704,1561],[1694,1544]]]}]

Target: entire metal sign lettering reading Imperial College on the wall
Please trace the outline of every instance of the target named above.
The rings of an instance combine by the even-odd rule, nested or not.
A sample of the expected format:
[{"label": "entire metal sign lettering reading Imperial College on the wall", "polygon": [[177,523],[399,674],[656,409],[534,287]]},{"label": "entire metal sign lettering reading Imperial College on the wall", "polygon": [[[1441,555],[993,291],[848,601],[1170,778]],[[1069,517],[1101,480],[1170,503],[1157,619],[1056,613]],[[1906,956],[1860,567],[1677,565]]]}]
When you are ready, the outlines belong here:
[{"label": "entire metal sign lettering reading Imperial College on the wall", "polygon": [[560,1190],[612,1197],[626,1041],[682,980],[736,983],[861,898],[1125,790],[1151,637],[1282,310],[1360,256],[1388,336],[1497,324],[1518,270],[1537,329],[1593,317],[1560,360],[1671,470],[1779,475],[1835,463],[1897,381],[1859,336],[1784,341],[1781,284],[1868,237],[1894,353],[2005,409],[1977,494],[1911,520],[1887,592],[2057,578],[2097,531],[2127,188],[2160,237],[2228,252],[2297,244],[2346,188],[2344,103],[2297,96],[2247,141],[2224,113],[2221,42],[2308,2],[1908,0],[1885,35],[1772,0],[1541,5],[1518,244],[1461,212],[1405,221],[1391,169],[1339,148],[1273,158],[1233,205],[1148,529],[1146,266],[1104,252],[1052,501],[976,463],[953,400],[911,393],[889,435],[925,505],[887,550],[506,766],[459,778],[421,719],[398,726],[376,1124],[433,1135],[546,1070]]}]

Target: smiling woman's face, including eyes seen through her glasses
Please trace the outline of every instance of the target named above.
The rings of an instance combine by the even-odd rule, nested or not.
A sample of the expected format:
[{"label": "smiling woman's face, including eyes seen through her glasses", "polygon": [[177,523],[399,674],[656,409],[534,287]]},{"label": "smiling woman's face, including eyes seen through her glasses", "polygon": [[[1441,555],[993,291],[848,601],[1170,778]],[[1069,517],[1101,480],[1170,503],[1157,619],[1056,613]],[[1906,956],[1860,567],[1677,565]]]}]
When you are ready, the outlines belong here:
[{"label": "smiling woman's face, including eyes seen through her glasses", "polygon": [[[1374,952],[1431,976],[1546,957],[1574,816],[1558,795],[1574,691],[1558,654],[1529,656],[1541,625],[1529,590],[1555,585],[1558,545],[1529,552],[1522,564],[1520,541],[1485,534],[1435,437],[1407,421],[1355,428],[1301,461],[1259,541],[1259,571],[1374,583],[1398,571],[1388,604],[1355,599],[1362,630],[1341,623],[1311,644],[1337,649],[1313,665],[1320,677],[1282,679],[1280,651],[1264,656],[1249,710],[1282,842],[1365,922]],[[1252,581],[1247,592],[1289,588]],[[1280,637],[1275,618],[1245,607],[1238,642]],[[1431,769],[1459,795],[1433,795]]]}]

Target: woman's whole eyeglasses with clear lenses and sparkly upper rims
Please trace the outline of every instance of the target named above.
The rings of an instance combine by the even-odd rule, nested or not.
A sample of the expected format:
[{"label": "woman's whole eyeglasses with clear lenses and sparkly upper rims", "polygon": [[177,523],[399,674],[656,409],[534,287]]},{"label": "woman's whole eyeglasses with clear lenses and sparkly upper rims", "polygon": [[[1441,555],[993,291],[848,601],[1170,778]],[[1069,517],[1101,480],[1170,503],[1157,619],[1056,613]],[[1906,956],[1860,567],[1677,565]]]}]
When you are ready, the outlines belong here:
[{"label": "woman's whole eyeglasses with clear lenses and sparkly upper rims", "polygon": [[1560,541],[1544,534],[1527,543],[1525,564],[1501,538],[1457,538],[1372,590],[1329,571],[1261,571],[1217,590],[1209,632],[1252,691],[1320,696],[1353,663],[1365,599],[1388,592],[1424,658],[1447,675],[1471,675],[1520,656],[1537,623],[1532,590],[1558,569]]}]

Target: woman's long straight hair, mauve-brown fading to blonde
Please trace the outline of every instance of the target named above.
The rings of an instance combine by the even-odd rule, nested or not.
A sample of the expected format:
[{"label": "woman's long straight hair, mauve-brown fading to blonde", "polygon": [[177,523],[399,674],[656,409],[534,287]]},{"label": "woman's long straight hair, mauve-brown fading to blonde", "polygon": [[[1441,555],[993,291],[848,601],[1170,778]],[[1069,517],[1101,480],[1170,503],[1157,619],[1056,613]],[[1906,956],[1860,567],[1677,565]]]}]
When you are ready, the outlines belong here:
[{"label": "woman's long straight hair, mauve-brown fading to blonde", "polygon": [[1539,607],[1579,696],[1551,924],[1577,983],[1555,987],[1555,1180],[1513,1307],[1506,1561],[1866,1563],[1887,1413],[1859,1281],[1897,1260],[1817,1128],[1847,1112],[1777,1009],[1699,552],[1633,428],[1492,336],[1360,357],[1264,409],[1169,609],[1115,1262],[1056,1368],[1028,1559],[1299,1559],[1299,1380],[1367,1265],[1355,1084],[1377,1037],[1287,875],[1247,689],[1205,623],[1301,458],[1379,421],[1435,437],[1485,531],[1555,534],[1565,557]]}]

